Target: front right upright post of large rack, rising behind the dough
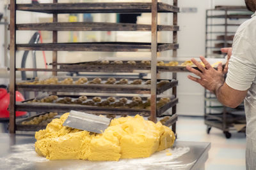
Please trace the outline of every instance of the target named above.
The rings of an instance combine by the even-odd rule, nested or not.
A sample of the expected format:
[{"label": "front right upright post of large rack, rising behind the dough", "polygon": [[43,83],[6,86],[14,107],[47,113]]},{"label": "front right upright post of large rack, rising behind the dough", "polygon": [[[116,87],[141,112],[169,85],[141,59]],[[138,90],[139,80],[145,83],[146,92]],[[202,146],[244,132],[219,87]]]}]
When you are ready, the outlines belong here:
[{"label": "front right upright post of large rack, rising behind the dough", "polygon": [[150,120],[156,122],[156,64],[157,64],[157,0],[152,0],[151,7],[151,111]]}]

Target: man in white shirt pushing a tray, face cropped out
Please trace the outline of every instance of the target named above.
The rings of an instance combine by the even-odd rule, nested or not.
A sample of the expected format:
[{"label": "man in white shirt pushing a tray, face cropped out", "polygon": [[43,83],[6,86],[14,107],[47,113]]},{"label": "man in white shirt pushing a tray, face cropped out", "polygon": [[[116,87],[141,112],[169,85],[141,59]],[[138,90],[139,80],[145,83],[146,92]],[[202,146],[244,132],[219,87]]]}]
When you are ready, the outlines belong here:
[{"label": "man in white shirt pushing a tray, face cropped out", "polygon": [[[248,10],[256,11],[256,0],[245,0]],[[227,50],[228,49],[224,49]],[[229,55],[231,52],[229,52]],[[256,169],[256,12],[250,20],[237,29],[228,62],[228,73],[224,79],[221,64],[218,70],[200,57],[203,67],[195,59],[191,61],[200,69],[187,69],[199,76],[188,76],[213,92],[218,100],[230,108],[236,108],[244,100],[246,113],[246,169]]]}]

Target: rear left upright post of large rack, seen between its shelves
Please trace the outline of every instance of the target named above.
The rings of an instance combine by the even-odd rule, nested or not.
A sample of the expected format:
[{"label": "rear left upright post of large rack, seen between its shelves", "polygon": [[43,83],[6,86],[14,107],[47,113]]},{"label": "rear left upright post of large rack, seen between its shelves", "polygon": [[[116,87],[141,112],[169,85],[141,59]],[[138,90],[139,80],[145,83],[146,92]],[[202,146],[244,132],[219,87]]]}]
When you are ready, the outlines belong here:
[{"label": "rear left upright post of large rack, seen between its shelves", "polygon": [[[58,0],[53,0],[58,3]],[[58,13],[53,14],[52,22],[58,22]],[[58,31],[52,31],[52,43],[58,43]],[[57,69],[58,52],[52,51],[52,69]],[[57,71],[52,71],[52,76],[57,76]]]}]

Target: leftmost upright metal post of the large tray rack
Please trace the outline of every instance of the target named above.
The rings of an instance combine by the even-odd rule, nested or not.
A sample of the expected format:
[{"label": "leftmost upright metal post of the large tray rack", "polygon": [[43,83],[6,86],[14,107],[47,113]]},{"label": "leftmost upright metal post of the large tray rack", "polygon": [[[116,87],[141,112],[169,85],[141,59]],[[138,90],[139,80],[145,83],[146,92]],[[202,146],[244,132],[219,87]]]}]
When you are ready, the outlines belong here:
[{"label": "leftmost upright metal post of the large tray rack", "polygon": [[15,133],[16,0],[10,1],[10,133]]}]

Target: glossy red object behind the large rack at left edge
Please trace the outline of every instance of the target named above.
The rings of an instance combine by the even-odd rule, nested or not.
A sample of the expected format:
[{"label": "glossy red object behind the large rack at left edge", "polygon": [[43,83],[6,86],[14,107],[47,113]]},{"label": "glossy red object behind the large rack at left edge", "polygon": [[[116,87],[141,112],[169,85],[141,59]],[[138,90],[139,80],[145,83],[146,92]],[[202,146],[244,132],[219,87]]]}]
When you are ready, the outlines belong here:
[{"label": "glossy red object behind the large rack at left edge", "polygon": [[[24,101],[24,97],[20,92],[16,91],[16,101]],[[0,118],[9,118],[10,113],[8,106],[10,103],[10,94],[6,89],[0,88]],[[26,115],[26,111],[16,111],[16,117]]]}]

